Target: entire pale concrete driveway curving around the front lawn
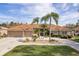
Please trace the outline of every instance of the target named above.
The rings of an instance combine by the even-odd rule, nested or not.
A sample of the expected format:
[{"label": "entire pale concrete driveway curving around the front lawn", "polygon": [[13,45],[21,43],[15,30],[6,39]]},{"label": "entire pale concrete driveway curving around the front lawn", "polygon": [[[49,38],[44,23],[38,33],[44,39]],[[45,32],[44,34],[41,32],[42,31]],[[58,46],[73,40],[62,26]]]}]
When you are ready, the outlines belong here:
[{"label": "entire pale concrete driveway curving around the front lawn", "polygon": [[[12,50],[14,47],[18,46],[18,45],[67,45],[70,46],[74,49],[76,49],[77,51],[79,51],[79,43],[68,40],[68,39],[61,39],[61,38],[52,38],[55,40],[59,40],[61,41],[61,43],[49,43],[49,42],[45,42],[45,43],[38,43],[38,42],[19,42],[18,39],[22,39],[22,38],[11,38],[11,37],[7,37],[7,38],[2,38],[0,39],[0,56],[4,55],[5,53],[7,53],[8,51]],[[47,38],[48,39],[48,38]]]}]

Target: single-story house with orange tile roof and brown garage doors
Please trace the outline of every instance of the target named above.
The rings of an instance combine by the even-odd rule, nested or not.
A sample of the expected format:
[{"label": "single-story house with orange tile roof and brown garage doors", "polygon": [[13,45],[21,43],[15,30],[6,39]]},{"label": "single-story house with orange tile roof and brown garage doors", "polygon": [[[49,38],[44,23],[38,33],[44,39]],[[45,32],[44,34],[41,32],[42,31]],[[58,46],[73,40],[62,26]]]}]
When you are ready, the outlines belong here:
[{"label": "single-story house with orange tile roof and brown garage doors", "polygon": [[[9,37],[30,37],[34,34],[33,30],[40,28],[39,25],[36,24],[23,24],[14,26],[8,29]],[[49,29],[49,26],[48,26]],[[51,26],[52,34],[64,34],[66,35],[68,30],[63,26]]]}]

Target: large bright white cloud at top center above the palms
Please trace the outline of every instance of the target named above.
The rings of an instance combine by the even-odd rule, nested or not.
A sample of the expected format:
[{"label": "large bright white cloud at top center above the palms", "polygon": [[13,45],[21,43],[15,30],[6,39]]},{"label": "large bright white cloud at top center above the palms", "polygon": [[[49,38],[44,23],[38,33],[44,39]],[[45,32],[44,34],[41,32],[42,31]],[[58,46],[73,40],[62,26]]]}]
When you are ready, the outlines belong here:
[{"label": "large bright white cloud at top center above the palms", "polygon": [[24,4],[24,8],[21,9],[22,14],[28,14],[34,17],[41,17],[50,12],[57,12],[57,10],[52,6],[52,4],[49,3],[38,3],[29,7],[27,7],[26,4]]}]

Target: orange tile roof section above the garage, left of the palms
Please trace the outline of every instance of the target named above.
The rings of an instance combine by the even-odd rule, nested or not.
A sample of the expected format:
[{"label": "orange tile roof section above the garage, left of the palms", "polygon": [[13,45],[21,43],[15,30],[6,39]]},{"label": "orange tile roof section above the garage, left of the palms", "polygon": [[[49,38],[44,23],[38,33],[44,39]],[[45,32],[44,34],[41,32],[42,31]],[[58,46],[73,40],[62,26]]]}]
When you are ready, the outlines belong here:
[{"label": "orange tile roof section above the garage, left of the palms", "polygon": [[32,31],[34,27],[38,27],[38,25],[23,24],[23,25],[10,27],[8,31]]}]

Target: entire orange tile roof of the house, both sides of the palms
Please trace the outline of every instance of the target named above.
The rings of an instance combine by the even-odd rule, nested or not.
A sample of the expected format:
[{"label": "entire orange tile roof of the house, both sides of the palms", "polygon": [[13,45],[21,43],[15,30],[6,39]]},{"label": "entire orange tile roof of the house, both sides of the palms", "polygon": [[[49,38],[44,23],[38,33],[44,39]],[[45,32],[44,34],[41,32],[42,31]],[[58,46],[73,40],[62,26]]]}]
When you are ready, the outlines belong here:
[{"label": "entire orange tile roof of the house, both sides of the palms", "polygon": [[[18,25],[18,26],[13,26],[13,27],[10,27],[8,29],[8,31],[32,31],[33,28],[39,28],[39,25],[37,24],[23,24],[23,25]],[[48,29],[50,28],[50,26],[48,26]],[[67,30],[66,27],[63,27],[63,26],[56,26],[56,25],[52,25],[51,26],[51,29],[52,30],[62,30],[62,31],[65,31]]]}]

